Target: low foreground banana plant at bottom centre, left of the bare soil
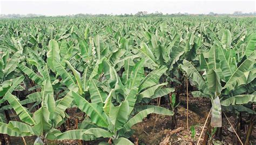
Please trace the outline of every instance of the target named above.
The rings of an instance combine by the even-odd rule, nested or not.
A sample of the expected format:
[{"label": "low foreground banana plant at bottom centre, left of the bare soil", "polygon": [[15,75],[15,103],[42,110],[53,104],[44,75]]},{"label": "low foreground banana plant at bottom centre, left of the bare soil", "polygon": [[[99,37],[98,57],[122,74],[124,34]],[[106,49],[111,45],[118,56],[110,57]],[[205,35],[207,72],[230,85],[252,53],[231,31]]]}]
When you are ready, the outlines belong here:
[{"label": "low foreground banana plant at bottom centre, left of the bare soil", "polygon": [[[147,114],[160,113],[172,115],[173,113],[165,108],[158,106],[150,106],[139,111],[136,115],[130,117],[129,100],[124,100],[119,105],[114,106],[111,103],[113,90],[104,101],[104,106],[97,103],[89,103],[85,98],[72,92],[76,105],[80,110],[84,111],[90,117],[89,120],[84,120],[79,129],[57,133],[56,139],[79,139],[91,140],[91,137],[86,136],[90,132],[94,139],[99,137],[111,137],[114,144],[133,144],[125,137],[130,137],[131,127],[138,122],[141,122]],[[72,136],[70,135],[72,134]]]}]

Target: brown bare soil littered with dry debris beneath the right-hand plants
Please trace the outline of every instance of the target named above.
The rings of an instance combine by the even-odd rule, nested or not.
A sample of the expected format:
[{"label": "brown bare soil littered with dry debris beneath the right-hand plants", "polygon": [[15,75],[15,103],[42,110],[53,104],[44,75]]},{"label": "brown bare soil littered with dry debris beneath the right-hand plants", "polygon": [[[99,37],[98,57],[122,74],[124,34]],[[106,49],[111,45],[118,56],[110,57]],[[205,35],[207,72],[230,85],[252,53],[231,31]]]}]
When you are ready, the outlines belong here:
[{"label": "brown bare soil littered with dry debris beneath the right-hand plants", "polygon": [[[203,129],[204,123],[206,121],[207,115],[210,111],[211,101],[207,98],[193,98],[189,97],[188,103],[188,126],[186,128],[186,97],[180,97],[180,106],[178,106],[178,112],[176,113],[176,119],[178,126],[173,131],[170,129],[171,117],[163,115],[151,115],[149,119],[145,119],[137,125],[133,126],[136,131],[134,134],[139,139],[139,144],[197,144],[200,133]],[[165,106],[167,107],[167,106]],[[235,126],[235,116],[234,114],[226,114],[228,120],[230,120],[232,126]],[[246,118],[246,117],[245,117]],[[194,126],[195,136],[192,138],[190,127]],[[244,125],[245,129],[241,131],[241,136],[246,135],[248,128],[248,122]],[[233,143],[236,138],[235,134],[230,128],[230,124],[227,119],[223,118],[223,130],[222,130],[222,142],[216,141],[215,136],[210,137],[209,144],[235,144]],[[178,130],[178,131],[177,131]],[[230,131],[231,130],[231,131]],[[177,132],[176,132],[177,131]],[[200,144],[203,142],[204,134],[206,128],[204,129],[203,135],[200,139]],[[176,132],[173,133],[172,132]],[[171,135],[169,135],[171,133]],[[241,137],[244,141],[244,137]],[[256,126],[251,136],[251,143],[256,144]]]}]

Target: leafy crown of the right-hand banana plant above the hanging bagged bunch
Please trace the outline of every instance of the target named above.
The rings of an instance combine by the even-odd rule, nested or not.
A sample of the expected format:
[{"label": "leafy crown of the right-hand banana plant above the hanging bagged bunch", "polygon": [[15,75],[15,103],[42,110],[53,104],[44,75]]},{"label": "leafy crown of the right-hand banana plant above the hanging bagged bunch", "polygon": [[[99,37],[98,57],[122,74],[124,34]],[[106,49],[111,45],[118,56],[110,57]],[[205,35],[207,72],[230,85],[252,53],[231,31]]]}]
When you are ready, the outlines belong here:
[{"label": "leafy crown of the right-hand banana plant above the hanging bagged bunch", "polygon": [[[210,50],[212,55],[208,57],[208,62],[203,54],[200,55],[200,69],[205,69],[203,75],[194,64],[187,60],[183,61],[180,68],[190,77],[191,83],[198,87],[198,91],[192,92],[194,97],[209,97],[212,103],[218,97],[221,105],[234,105],[238,111],[243,111],[242,105],[255,102],[253,91],[255,88],[255,69],[253,68],[255,54],[252,53],[241,62],[228,64],[223,54],[224,50],[222,47],[212,47]],[[221,69],[221,67],[229,69]],[[221,113],[221,108],[217,110]],[[254,112],[250,111],[250,113]]]}]

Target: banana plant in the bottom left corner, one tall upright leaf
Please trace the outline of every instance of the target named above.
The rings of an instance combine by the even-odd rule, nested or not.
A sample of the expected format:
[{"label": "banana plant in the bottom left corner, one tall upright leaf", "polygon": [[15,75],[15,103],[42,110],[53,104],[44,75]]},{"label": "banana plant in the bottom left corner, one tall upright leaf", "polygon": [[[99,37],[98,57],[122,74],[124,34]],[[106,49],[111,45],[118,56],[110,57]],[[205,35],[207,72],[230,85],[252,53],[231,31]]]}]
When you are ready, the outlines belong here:
[{"label": "banana plant in the bottom left corner, one tall upright leaf", "polygon": [[[52,136],[54,137],[54,135],[52,134],[58,132],[56,127],[63,123],[66,117],[65,110],[73,101],[72,92],[70,91],[65,97],[55,101],[47,66],[44,67],[42,75],[41,92],[31,93],[28,99],[20,101],[9,91],[6,92],[6,100],[14,108],[21,122],[10,121],[9,124],[1,122],[0,133],[11,136],[36,135],[42,137],[44,142],[46,142],[46,139],[53,139]],[[33,113],[32,117],[27,108],[22,106],[22,104],[38,101],[41,102],[41,107]]]}]

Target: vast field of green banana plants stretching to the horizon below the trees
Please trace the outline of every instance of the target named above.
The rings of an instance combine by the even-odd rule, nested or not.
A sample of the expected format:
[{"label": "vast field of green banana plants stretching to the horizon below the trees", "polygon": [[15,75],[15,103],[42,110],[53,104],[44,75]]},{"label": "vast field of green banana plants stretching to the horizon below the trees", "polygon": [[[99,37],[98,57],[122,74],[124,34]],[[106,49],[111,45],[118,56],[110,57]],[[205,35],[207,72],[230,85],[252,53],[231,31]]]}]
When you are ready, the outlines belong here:
[{"label": "vast field of green banana plants stretching to the horizon below the trees", "polygon": [[255,48],[255,18],[2,19],[1,144],[254,144]]}]

